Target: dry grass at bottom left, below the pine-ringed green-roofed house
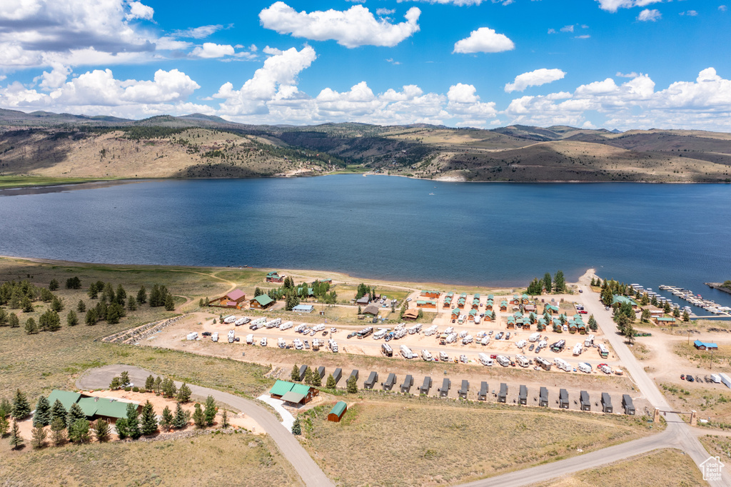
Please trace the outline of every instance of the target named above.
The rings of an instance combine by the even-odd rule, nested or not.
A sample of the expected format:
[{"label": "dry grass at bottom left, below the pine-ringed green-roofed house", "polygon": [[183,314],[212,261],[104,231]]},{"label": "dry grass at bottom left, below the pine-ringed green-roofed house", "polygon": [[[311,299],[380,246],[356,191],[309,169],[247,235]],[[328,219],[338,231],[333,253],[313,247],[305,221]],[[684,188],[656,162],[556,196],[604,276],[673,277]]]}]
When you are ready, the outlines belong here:
[{"label": "dry grass at bottom left, below the pine-ringed green-roofed house", "polygon": [[243,433],[7,450],[0,472],[4,486],[301,485],[268,437]]}]

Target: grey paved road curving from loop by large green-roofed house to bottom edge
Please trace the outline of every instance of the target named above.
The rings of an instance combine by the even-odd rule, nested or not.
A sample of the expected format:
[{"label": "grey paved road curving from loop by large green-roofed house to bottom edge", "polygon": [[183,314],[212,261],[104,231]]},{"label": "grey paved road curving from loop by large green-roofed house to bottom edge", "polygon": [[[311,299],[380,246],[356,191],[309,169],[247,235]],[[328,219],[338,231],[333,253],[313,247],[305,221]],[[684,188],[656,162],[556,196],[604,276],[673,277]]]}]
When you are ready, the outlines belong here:
[{"label": "grey paved road curving from loop by large green-roofed house to bottom edge", "polygon": [[[83,376],[76,381],[76,386],[80,389],[107,388],[109,387],[112,377],[125,370],[129,372],[130,380],[137,384],[144,384],[145,379],[151,374],[151,372],[135,366],[104,366],[86,371],[86,373],[84,373]],[[179,386],[181,385],[181,382],[175,382],[175,385]],[[225,404],[229,404],[231,407],[239,409],[241,412],[246,413],[259,423],[274,442],[276,442],[284,458],[287,458],[289,463],[292,464],[292,467],[295,468],[295,471],[300,475],[306,486],[333,486],[330,479],[327,478],[325,473],[322,472],[322,470],[309,456],[307,451],[302,447],[302,445],[300,445],[298,439],[292,436],[292,433],[287,431],[284,426],[281,426],[281,423],[279,423],[276,416],[271,414],[267,409],[259,406],[254,401],[249,401],[249,399],[243,399],[242,397],[234,396],[233,394],[224,393],[220,390],[203,388],[199,385],[192,384],[189,386],[194,395],[201,397],[209,395],[213,396],[216,401],[221,401]]]}]

